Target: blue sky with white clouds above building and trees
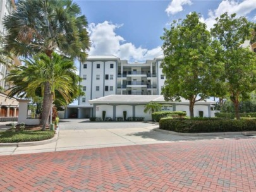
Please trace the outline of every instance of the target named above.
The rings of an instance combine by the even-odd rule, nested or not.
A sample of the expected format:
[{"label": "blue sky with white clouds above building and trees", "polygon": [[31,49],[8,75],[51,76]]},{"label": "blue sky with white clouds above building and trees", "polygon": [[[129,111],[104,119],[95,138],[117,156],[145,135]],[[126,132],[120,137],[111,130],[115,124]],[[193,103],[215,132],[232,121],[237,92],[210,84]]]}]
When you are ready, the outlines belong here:
[{"label": "blue sky with white clouds above building and trees", "polygon": [[145,61],[162,54],[163,28],[192,11],[210,28],[226,11],[256,21],[256,0],[87,1],[76,0],[87,16],[92,40],[89,54],[114,54],[129,61]]}]

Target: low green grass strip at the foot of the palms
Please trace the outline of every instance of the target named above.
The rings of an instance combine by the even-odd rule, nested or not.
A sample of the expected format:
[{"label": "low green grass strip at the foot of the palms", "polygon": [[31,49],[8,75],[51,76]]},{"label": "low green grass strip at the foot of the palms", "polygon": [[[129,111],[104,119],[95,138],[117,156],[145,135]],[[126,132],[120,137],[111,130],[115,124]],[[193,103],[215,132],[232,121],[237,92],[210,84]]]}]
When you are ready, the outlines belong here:
[{"label": "low green grass strip at the foot of the palms", "polygon": [[55,131],[19,131],[0,132],[0,143],[16,143],[26,141],[48,140],[54,136]]}]

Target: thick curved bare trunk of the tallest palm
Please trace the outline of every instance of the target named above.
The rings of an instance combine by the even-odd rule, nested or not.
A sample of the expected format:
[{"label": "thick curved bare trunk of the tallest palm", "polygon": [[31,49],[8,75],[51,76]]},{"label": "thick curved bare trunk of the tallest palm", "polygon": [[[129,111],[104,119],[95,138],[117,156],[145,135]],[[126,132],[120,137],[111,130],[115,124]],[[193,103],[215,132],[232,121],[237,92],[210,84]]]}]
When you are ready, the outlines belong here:
[{"label": "thick curved bare trunk of the tallest palm", "polygon": [[42,124],[42,130],[46,129],[46,125],[49,120],[49,115],[51,112],[51,87],[50,83],[46,82],[44,85],[44,100],[42,106],[42,119],[40,124]]}]

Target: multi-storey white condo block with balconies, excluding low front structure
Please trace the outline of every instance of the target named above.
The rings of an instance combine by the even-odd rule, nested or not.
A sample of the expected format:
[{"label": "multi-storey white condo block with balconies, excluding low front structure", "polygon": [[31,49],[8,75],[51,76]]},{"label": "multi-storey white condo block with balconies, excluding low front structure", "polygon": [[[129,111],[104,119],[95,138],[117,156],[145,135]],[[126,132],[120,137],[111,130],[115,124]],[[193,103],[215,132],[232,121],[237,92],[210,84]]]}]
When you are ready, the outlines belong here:
[{"label": "multi-storey white condo block with balconies, excluding low front structure", "polygon": [[80,85],[85,96],[78,99],[78,118],[92,116],[93,107],[88,102],[92,99],[107,95],[160,95],[164,85],[161,61],[159,57],[145,63],[128,63],[116,56],[88,56],[85,63],[80,63]]}]

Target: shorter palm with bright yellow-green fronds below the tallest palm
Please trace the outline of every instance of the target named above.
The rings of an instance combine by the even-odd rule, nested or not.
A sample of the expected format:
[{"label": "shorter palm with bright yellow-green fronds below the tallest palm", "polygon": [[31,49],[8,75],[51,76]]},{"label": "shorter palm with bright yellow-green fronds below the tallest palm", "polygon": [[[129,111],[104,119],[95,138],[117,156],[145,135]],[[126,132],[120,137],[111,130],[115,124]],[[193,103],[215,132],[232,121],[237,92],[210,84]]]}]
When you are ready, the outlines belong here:
[{"label": "shorter palm with bright yellow-green fronds below the tallest palm", "polygon": [[[49,88],[49,92],[52,93],[50,103],[52,100],[58,100],[65,105],[80,96],[82,90],[78,82],[81,78],[76,75],[76,66],[71,59],[56,53],[52,53],[50,58],[42,53],[23,62],[24,66],[16,66],[6,78],[14,84],[10,88],[10,96],[37,99],[44,94],[46,88]],[[46,124],[43,125],[43,130],[45,126]]]}]

